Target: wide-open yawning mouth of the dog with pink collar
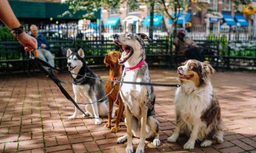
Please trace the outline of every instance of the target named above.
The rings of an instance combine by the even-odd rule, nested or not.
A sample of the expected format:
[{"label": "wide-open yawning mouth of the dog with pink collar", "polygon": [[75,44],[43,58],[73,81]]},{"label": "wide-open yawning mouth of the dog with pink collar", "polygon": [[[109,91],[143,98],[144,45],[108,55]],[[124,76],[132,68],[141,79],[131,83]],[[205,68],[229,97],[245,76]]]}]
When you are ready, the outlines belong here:
[{"label": "wide-open yawning mouth of the dog with pink collar", "polygon": [[123,64],[124,62],[126,62],[126,60],[128,60],[132,54],[133,54],[133,48],[130,47],[129,45],[124,45],[119,41],[114,41],[114,43],[116,45],[119,45],[119,47],[121,48],[122,51],[122,56],[120,57],[120,59],[118,59],[118,63]]}]

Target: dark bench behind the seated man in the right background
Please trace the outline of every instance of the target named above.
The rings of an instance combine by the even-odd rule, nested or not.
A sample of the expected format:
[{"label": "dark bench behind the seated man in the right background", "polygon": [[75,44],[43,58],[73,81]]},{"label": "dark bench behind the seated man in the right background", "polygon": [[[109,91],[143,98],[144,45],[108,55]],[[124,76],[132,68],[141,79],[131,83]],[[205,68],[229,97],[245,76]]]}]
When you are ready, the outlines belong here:
[{"label": "dark bench behind the seated man in the right background", "polygon": [[[219,71],[219,41],[212,41],[212,40],[194,40],[200,51],[203,55],[205,60],[208,60],[210,64],[216,69],[216,71]],[[175,65],[178,67],[180,64],[188,59],[184,56],[184,54],[181,54],[180,51],[178,51],[177,47],[175,47],[174,53],[172,53],[175,59]]]}]

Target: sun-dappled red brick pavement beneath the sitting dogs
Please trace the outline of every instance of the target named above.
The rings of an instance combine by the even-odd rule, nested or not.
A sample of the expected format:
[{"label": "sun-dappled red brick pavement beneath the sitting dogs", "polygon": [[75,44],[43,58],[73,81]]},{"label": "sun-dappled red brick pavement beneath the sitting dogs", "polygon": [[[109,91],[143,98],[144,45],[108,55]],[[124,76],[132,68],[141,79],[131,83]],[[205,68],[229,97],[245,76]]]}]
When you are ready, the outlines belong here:
[{"label": "sun-dappled red brick pavement beneath the sitting dogs", "polygon": [[[96,73],[108,77],[108,71]],[[175,71],[151,71],[152,82],[174,84],[176,76]],[[68,74],[58,77],[71,81]],[[255,82],[256,74],[249,72],[218,72],[212,77],[222,107],[225,142],[208,148],[196,143],[190,151],[182,148],[187,137],[180,137],[177,143],[166,142],[175,128],[175,88],[154,87],[162,144],[156,148],[149,139],[145,152],[256,152]],[[72,85],[63,86],[73,97]],[[126,133],[124,123],[114,134],[103,128],[104,124],[96,126],[82,115],[68,120],[74,106],[50,79],[10,77],[0,79],[0,88],[0,152],[125,152],[127,143],[115,143],[117,137]],[[134,149],[138,142],[138,138],[133,138]]]}]

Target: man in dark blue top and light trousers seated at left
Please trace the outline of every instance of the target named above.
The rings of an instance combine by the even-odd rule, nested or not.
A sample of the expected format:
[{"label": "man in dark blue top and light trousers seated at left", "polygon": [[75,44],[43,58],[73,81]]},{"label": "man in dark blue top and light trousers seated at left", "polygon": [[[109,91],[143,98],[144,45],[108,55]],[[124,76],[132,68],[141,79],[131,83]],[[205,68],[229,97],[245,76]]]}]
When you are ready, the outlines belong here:
[{"label": "man in dark blue top and light trousers seated at left", "polygon": [[[50,66],[54,67],[54,56],[52,53],[50,53],[49,49],[50,46],[43,35],[38,34],[37,26],[31,25],[30,26],[30,32],[31,36],[33,36],[35,39],[37,39],[37,45],[38,45],[38,58],[41,60],[44,60],[50,64]],[[50,72],[50,69],[43,66],[46,71]],[[56,72],[55,72],[56,74]]]}]

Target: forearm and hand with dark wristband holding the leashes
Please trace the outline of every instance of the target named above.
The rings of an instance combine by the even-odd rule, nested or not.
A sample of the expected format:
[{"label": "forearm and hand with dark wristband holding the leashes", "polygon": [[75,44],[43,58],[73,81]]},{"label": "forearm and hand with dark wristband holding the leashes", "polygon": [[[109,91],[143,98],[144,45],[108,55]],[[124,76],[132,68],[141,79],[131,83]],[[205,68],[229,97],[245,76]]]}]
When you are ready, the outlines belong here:
[{"label": "forearm and hand with dark wristband holding the leashes", "polygon": [[37,49],[37,40],[24,32],[7,0],[0,0],[0,20],[11,30],[11,35],[24,46],[25,51]]}]

